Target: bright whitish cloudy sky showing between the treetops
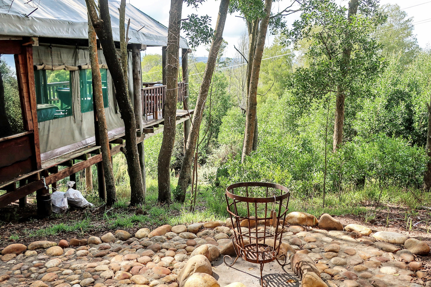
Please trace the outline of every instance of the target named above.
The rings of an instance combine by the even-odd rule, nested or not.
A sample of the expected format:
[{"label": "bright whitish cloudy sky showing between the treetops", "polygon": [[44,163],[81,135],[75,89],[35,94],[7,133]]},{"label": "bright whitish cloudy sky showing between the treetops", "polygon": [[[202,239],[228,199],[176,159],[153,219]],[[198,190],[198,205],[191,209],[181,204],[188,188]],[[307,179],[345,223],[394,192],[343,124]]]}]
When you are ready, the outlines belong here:
[{"label": "bright whitish cloudy sky showing between the treetops", "polygon": [[[142,1],[142,0],[128,0],[128,3],[137,7],[147,15],[153,17],[165,26],[168,26],[169,19],[169,7],[170,0],[157,0],[157,1]],[[277,13],[289,6],[291,1],[281,0],[272,4],[272,12]],[[431,1],[428,0],[381,0],[381,4],[398,4],[401,9],[407,12],[408,17],[413,17],[413,24],[415,25],[416,37],[420,47],[425,48],[427,44],[431,42]],[[347,6],[348,0],[340,0],[340,4]],[[209,15],[212,19],[212,28],[215,26],[217,21],[217,14],[219,12],[220,1],[206,0],[198,9],[192,9],[191,7],[183,6],[182,18],[186,18],[187,15],[195,13],[198,15]],[[292,6],[293,9],[295,6]],[[296,6],[298,7],[298,6]],[[293,15],[287,16],[287,22],[289,25],[294,22],[300,15],[297,12]],[[246,31],[246,25],[244,19],[237,17],[239,14],[228,15],[226,19],[225,31],[223,32],[223,38],[228,42],[227,51],[224,56],[233,58],[236,51],[234,45],[238,47],[238,38]],[[266,43],[272,43],[274,37],[269,36],[266,39]],[[269,42],[269,43],[268,43]],[[158,53],[161,54],[161,47],[148,47],[146,53]],[[198,47],[194,56],[208,56],[208,52],[205,47]]]}]

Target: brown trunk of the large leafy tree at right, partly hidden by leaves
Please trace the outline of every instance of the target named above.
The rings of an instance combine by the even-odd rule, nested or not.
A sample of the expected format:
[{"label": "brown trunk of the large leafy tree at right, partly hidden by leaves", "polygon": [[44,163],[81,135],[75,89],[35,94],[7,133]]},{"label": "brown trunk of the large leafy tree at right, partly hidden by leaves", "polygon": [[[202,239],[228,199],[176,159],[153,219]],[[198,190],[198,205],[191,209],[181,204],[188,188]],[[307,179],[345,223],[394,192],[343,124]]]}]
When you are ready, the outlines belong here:
[{"label": "brown trunk of the large leafy tree at right, partly hidden by leaves", "polygon": [[[349,24],[352,22],[353,15],[358,11],[359,0],[350,0],[349,2],[349,12],[347,14],[347,20]],[[349,38],[349,33],[345,33],[346,40]],[[349,41],[346,41],[349,43]],[[348,44],[344,48],[340,71],[341,75],[346,78],[350,69],[350,54],[352,53],[352,45]],[[332,150],[336,151],[337,148],[343,143],[343,125],[344,125],[344,100],[346,97],[346,92],[343,84],[338,84],[337,86],[337,100],[335,102],[335,121],[334,121],[334,138],[332,144]]]}]

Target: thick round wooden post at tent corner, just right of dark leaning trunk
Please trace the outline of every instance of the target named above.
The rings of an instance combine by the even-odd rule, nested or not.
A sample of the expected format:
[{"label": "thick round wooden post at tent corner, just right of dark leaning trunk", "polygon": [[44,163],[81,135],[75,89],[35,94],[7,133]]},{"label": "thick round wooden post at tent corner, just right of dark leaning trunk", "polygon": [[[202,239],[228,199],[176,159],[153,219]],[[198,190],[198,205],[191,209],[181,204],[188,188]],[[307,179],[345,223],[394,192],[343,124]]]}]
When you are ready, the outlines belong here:
[{"label": "thick round wooden post at tent corner, just right of dark leaning trunk", "polygon": [[[166,53],[165,53],[166,54]],[[166,58],[166,57],[165,57]],[[142,134],[144,127],[144,119],[142,115],[142,73],[141,73],[141,50],[138,45],[133,45],[132,48],[132,67],[133,67],[133,101],[134,101],[134,115],[136,119],[136,128]],[[164,69],[163,69],[164,71]],[[139,153],[139,165],[141,165],[142,182],[144,183],[144,197],[147,194],[147,187],[145,183],[145,153],[144,142],[137,144],[137,151]]]}]

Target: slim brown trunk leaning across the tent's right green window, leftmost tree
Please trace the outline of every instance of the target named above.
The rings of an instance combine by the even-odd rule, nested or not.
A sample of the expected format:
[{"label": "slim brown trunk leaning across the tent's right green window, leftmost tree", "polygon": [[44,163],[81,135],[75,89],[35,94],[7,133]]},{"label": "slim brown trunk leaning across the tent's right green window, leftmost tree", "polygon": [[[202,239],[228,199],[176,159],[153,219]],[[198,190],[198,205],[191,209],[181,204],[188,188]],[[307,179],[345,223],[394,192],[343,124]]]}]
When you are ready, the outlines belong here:
[{"label": "slim brown trunk leaning across the tent's right green window, leftmost tree", "polygon": [[91,78],[93,80],[94,112],[97,115],[99,125],[100,150],[102,152],[103,172],[105,174],[106,205],[111,206],[117,201],[114,171],[111,162],[111,150],[109,148],[108,128],[106,126],[105,109],[103,105],[102,77],[99,70],[99,57],[97,55],[96,32],[88,18],[88,47],[91,63]]}]

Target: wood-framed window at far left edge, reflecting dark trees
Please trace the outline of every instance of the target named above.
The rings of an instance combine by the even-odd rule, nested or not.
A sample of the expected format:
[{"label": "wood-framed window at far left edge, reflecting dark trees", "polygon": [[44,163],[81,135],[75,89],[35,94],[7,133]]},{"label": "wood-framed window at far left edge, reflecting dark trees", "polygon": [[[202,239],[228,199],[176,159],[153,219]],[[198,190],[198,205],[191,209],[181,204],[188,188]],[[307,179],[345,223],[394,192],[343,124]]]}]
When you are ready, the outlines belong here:
[{"label": "wood-framed window at far left edge, reflecting dark trees", "polygon": [[0,137],[23,131],[14,55],[0,54]]}]

